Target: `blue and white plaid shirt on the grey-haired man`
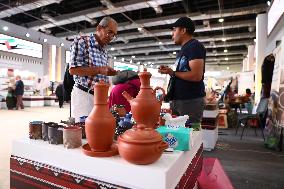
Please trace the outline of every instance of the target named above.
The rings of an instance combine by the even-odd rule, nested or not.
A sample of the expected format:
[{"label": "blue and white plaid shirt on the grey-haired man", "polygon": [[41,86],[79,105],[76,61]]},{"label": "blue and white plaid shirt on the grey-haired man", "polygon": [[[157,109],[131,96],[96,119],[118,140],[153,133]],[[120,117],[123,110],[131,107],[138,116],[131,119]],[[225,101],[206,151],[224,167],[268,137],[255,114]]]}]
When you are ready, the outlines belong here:
[{"label": "blue and white plaid shirt on the grey-haired man", "polygon": [[[76,37],[71,45],[70,68],[88,66],[107,66],[107,51],[102,48],[94,34]],[[95,82],[103,80],[109,82],[108,76],[73,76],[75,84],[80,84],[88,89],[93,88]]]}]

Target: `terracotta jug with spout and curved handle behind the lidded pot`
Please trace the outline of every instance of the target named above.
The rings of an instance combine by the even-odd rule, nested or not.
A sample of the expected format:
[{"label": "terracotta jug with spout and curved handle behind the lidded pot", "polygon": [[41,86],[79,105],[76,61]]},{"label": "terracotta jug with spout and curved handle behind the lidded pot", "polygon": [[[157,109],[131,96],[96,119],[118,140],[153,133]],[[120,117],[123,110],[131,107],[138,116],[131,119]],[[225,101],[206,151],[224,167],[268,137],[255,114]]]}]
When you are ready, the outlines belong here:
[{"label": "terracotta jug with spout and curved handle behind the lidded pot", "polygon": [[[144,124],[146,127],[155,128],[159,120],[162,100],[165,96],[165,91],[161,87],[156,87],[154,90],[150,86],[150,78],[152,74],[144,68],[140,72],[139,78],[141,81],[140,91],[136,98],[131,97],[126,91],[122,93],[124,98],[128,100],[131,106],[131,112],[137,124]],[[160,89],[163,96],[160,101],[156,98],[156,91]]]}]

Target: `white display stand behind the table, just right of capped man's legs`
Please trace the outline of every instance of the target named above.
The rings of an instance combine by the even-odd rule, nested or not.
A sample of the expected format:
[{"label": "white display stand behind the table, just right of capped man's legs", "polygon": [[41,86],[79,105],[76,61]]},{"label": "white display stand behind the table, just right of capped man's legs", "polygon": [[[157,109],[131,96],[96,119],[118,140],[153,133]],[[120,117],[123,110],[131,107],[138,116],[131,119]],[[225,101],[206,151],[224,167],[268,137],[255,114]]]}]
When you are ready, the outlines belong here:
[{"label": "white display stand behind the table, just right of capped man's legs", "polygon": [[[217,121],[218,117],[218,110],[204,110],[203,112],[203,118],[206,119],[212,119]],[[214,129],[201,129],[202,132],[202,140],[203,140],[203,148],[204,150],[211,151],[215,148],[216,142],[218,140],[218,127],[215,123],[215,125],[212,125],[212,128]]]}]

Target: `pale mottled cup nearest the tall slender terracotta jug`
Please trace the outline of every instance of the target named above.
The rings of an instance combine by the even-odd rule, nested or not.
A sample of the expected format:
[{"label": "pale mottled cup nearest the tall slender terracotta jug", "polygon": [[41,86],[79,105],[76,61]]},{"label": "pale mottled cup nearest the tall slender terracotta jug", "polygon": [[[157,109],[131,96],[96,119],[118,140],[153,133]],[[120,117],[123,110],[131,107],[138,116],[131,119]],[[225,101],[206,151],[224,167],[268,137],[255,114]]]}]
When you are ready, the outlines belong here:
[{"label": "pale mottled cup nearest the tall slender terracotta jug", "polygon": [[63,144],[66,148],[78,148],[82,145],[82,128],[65,127],[63,129]]}]

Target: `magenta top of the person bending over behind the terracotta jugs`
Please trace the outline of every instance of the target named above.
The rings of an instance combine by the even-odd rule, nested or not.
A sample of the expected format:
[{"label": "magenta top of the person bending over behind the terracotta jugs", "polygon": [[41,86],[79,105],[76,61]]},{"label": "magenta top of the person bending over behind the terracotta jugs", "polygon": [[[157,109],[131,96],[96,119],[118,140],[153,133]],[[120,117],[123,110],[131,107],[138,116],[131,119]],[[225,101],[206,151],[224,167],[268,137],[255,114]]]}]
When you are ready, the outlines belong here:
[{"label": "magenta top of the person bending over behind the terracotta jugs", "polygon": [[[132,71],[133,72],[133,71]],[[127,80],[125,80],[123,83],[114,83],[116,84],[110,93],[108,104],[109,108],[111,108],[113,105],[124,105],[126,112],[131,111],[131,107],[129,102],[122,96],[122,93],[126,91],[130,96],[136,97],[140,90],[140,79],[136,72],[134,72],[135,75],[131,76]]]}]

